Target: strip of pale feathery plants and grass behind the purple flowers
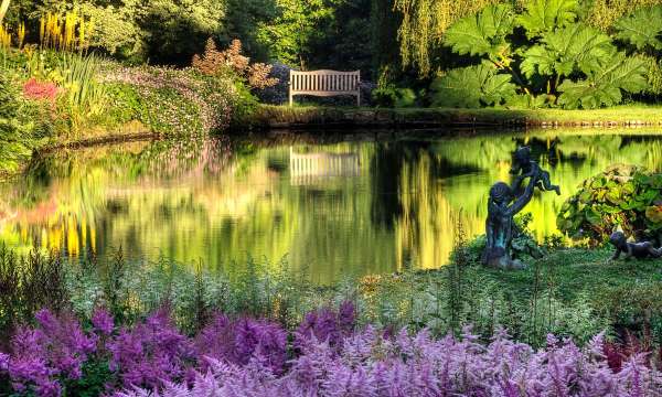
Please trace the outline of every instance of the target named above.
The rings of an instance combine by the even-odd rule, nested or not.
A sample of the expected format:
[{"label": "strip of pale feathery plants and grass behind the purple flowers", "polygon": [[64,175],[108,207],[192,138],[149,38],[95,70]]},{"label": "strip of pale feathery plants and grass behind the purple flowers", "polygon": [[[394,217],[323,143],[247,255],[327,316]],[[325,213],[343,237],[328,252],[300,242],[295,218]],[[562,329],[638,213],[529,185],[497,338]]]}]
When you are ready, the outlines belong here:
[{"label": "strip of pale feathery plants and grass behind the purple flowers", "polygon": [[[317,287],[287,262],[249,260],[235,272],[213,272],[168,259],[32,256],[20,261],[0,254],[0,280],[12,286],[0,300],[0,329],[30,322],[46,305],[88,319],[108,308],[132,323],[167,303],[178,325],[194,332],[215,311],[255,315],[291,329],[305,313],[351,300],[360,324],[382,329],[428,329],[460,334],[472,324],[488,340],[504,328],[516,340],[541,346],[548,333],[587,342],[606,331],[662,344],[662,261],[608,262],[606,249],[554,249],[521,271],[485,269],[472,244],[451,265],[434,271],[346,278]],[[15,271],[22,269],[21,271]],[[13,282],[12,277],[22,275]]]}]

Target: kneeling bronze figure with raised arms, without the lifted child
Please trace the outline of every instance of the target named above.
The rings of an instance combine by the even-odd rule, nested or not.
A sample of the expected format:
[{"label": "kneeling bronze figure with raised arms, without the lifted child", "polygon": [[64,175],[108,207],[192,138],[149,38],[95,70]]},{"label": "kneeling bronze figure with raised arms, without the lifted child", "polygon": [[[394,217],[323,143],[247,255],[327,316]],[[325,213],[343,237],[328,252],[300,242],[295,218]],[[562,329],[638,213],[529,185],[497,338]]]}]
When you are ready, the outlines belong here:
[{"label": "kneeling bronze figure with raised arms, without the lifted child", "polygon": [[[490,189],[488,202],[488,219],[485,221],[487,246],[483,253],[483,264],[503,269],[521,269],[524,265],[511,258],[510,248],[513,239],[513,217],[533,197],[537,184],[533,176],[522,195],[515,197],[515,192],[505,182],[496,182]],[[511,202],[514,203],[511,204]]]}]

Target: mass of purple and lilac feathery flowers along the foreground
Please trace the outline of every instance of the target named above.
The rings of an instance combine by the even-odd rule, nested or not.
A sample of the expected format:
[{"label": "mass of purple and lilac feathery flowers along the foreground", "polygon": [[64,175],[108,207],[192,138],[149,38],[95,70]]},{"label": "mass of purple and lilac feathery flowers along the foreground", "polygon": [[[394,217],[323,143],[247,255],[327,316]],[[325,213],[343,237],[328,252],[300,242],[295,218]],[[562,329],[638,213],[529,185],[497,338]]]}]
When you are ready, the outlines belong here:
[{"label": "mass of purple and lilac feathery flowers along the foreground", "polygon": [[[264,320],[217,314],[196,337],[172,325],[161,309],[134,328],[114,328],[97,310],[83,331],[68,315],[38,313],[34,329],[19,330],[0,354],[0,378],[14,391],[75,395],[66,388],[82,367],[107,357],[116,396],[662,396],[659,363],[641,351],[612,365],[613,345],[602,334],[584,347],[547,336],[544,348],[498,332],[489,344],[466,328],[461,337],[435,339],[426,330],[384,333],[355,330],[354,308],[310,313],[288,334]],[[299,343],[301,339],[306,343]],[[289,358],[289,360],[288,360]],[[114,383],[117,377],[119,383]]]}]

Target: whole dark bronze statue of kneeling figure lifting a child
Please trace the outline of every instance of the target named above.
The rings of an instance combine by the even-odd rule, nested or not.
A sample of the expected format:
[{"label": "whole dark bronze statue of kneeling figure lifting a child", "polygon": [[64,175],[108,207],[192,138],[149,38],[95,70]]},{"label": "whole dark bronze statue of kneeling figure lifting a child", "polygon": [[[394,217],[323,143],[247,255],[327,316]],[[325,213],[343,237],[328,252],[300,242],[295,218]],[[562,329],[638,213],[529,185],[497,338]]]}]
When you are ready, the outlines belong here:
[{"label": "whole dark bronze statue of kneeling figure lifting a child", "polygon": [[[549,181],[549,173],[531,160],[528,147],[519,148],[513,160],[513,170],[516,170],[513,173],[522,171],[522,174],[516,176],[512,186],[505,182],[496,182],[492,185],[488,200],[488,219],[485,221],[487,245],[482,261],[487,266],[502,269],[525,267],[520,260],[513,260],[511,257],[514,237],[513,217],[528,204],[534,189],[537,186],[543,192],[554,190],[559,194],[558,186],[553,185]],[[528,178],[528,184],[520,193],[520,185],[526,178]]]}]

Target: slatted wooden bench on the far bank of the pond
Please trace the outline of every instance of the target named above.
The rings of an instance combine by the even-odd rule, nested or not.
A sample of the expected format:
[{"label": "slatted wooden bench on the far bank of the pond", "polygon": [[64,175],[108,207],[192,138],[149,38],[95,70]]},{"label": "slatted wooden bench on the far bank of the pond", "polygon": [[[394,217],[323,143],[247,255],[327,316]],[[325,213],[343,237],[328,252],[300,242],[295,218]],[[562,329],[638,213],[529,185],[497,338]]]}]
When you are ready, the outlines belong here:
[{"label": "slatted wooden bench on the far bank of the pond", "polygon": [[290,106],[295,101],[295,95],[353,95],[356,97],[356,105],[361,106],[361,71],[290,71],[289,87]]}]

